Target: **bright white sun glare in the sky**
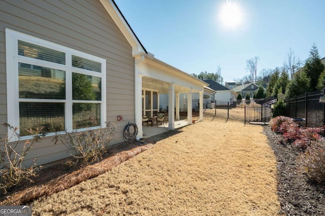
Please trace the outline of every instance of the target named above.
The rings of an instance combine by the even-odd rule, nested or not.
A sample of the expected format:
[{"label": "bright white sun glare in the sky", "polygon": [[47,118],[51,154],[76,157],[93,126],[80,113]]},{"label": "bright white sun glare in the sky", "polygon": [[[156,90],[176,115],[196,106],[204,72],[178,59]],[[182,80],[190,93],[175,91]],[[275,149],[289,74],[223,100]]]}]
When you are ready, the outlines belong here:
[{"label": "bright white sun glare in the sky", "polygon": [[223,26],[234,28],[241,24],[243,13],[238,4],[227,1],[221,7],[219,18]]}]

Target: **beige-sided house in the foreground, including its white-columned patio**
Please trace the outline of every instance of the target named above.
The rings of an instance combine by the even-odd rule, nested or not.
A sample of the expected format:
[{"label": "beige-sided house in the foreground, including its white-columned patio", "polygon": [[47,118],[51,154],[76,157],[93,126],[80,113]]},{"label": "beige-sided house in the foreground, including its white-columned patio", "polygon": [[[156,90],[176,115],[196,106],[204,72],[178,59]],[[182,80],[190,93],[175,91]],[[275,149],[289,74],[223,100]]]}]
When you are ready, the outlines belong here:
[{"label": "beige-sided house in the foreground, including its white-columned patio", "polygon": [[[113,145],[123,141],[127,122],[135,122],[142,137],[142,115],[158,109],[159,94],[168,93],[171,111],[179,109],[180,93],[203,98],[208,84],[147,52],[113,0],[0,0],[0,5],[0,122],[18,127],[21,140],[31,138],[24,128],[44,126],[47,133],[26,164],[70,156],[66,147],[54,145],[56,131],[115,122]],[[191,104],[187,109],[191,124]],[[175,119],[179,113],[170,112],[170,130]],[[6,132],[0,129],[0,135]]]}]

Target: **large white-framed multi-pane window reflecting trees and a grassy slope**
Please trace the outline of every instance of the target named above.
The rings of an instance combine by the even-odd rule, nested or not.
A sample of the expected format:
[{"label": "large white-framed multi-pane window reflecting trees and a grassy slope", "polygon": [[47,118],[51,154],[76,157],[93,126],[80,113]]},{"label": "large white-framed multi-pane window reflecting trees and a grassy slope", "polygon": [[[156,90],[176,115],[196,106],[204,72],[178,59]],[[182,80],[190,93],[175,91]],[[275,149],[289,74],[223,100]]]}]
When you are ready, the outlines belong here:
[{"label": "large white-framed multi-pane window reflecting trees and a grassy slope", "polygon": [[20,136],[105,126],[105,59],[11,29],[6,54],[8,123]]}]

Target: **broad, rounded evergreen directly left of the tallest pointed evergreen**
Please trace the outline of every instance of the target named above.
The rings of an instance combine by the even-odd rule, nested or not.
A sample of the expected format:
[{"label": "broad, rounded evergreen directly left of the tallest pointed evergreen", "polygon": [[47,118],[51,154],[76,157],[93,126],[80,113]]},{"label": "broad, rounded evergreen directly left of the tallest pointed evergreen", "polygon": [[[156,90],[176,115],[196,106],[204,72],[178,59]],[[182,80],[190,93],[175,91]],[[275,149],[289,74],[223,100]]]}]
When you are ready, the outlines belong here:
[{"label": "broad, rounded evergreen directly left of the tallest pointed evergreen", "polygon": [[288,83],[285,91],[286,97],[294,97],[310,91],[310,79],[305,71],[294,74],[293,79]]}]

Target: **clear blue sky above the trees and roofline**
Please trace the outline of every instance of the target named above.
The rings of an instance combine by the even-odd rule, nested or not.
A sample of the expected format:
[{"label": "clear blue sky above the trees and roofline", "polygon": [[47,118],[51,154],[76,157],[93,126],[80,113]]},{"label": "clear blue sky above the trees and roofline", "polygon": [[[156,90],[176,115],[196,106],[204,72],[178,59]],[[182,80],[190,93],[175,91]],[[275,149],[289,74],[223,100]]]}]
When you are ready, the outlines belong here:
[{"label": "clear blue sky above the trees and roofline", "polygon": [[[291,48],[305,61],[313,43],[325,57],[325,0],[115,0],[139,40],[156,58],[188,74],[215,73],[226,82],[282,66]],[[223,5],[242,13],[235,28],[224,26]]]}]

